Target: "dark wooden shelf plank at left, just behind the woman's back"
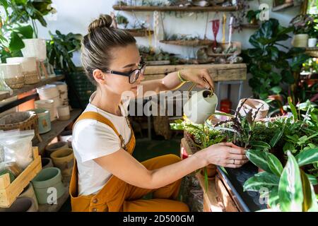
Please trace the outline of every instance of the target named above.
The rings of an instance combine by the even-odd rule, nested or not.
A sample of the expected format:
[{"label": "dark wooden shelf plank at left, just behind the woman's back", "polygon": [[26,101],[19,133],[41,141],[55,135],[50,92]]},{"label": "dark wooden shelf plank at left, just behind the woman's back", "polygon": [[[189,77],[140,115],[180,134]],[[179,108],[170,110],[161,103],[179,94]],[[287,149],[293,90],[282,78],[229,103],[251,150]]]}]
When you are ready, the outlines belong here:
[{"label": "dark wooden shelf plank at left, just behind the woman's back", "polygon": [[71,111],[71,118],[66,121],[52,121],[51,131],[41,134],[42,142],[33,144],[34,146],[39,147],[39,154],[42,155],[44,153],[45,147],[59,134],[64,131],[66,126],[71,124],[71,122],[81,114],[81,109],[73,109]]}]

